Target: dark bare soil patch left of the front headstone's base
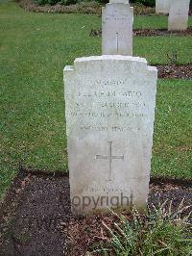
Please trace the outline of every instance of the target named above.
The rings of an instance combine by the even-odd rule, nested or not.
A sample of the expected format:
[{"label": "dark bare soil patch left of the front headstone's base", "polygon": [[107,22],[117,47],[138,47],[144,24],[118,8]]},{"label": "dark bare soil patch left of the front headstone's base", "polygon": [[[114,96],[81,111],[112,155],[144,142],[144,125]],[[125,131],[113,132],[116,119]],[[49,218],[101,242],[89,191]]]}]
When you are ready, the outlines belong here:
[{"label": "dark bare soil patch left of the front headstone's base", "polygon": [[63,255],[68,177],[19,173],[0,209],[0,255]]}]

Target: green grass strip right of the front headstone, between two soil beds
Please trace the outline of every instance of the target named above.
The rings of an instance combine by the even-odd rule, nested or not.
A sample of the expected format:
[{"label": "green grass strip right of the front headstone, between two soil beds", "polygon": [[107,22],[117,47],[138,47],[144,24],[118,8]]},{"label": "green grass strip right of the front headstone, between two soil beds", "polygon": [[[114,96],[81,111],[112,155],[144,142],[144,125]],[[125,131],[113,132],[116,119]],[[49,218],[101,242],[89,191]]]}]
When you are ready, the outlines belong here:
[{"label": "green grass strip right of the front headstone, between two soil beds", "polygon": [[192,178],[192,80],[158,80],[152,174]]}]

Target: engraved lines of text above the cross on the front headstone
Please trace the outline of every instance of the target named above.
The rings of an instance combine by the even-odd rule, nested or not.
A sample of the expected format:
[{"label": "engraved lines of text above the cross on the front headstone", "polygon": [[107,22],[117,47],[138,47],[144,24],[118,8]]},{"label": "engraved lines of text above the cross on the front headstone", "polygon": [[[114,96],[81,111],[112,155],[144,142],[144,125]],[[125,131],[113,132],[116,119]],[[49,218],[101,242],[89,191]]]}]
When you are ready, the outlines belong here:
[{"label": "engraved lines of text above the cross on the front headstone", "polygon": [[81,124],[76,128],[98,132],[140,131],[139,125],[131,123],[132,118],[149,115],[142,90],[129,90],[127,80],[94,80],[89,83],[86,89],[76,91],[70,103],[67,115],[81,118]]}]

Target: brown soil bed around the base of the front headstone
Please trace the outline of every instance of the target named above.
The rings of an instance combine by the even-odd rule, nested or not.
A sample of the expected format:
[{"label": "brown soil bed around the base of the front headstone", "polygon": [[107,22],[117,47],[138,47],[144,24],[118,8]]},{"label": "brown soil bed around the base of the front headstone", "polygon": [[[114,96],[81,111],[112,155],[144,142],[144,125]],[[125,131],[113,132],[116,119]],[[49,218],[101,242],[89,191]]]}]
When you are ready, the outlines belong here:
[{"label": "brown soil bed around the base of the front headstone", "polygon": [[[173,200],[174,210],[184,198],[184,205],[192,205],[191,185],[190,180],[152,179],[149,204]],[[71,215],[68,175],[22,169],[0,207],[0,255],[70,255],[69,237],[72,255],[84,255],[106,218],[112,221],[108,214]]]}]

